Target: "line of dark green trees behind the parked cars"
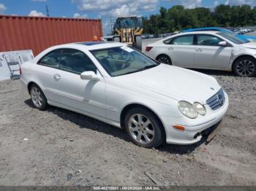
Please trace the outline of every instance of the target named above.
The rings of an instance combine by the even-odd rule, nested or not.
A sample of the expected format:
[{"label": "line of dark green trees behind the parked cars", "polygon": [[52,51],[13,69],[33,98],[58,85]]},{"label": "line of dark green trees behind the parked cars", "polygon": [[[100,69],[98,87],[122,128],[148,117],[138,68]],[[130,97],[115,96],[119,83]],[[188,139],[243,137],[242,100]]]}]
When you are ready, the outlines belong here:
[{"label": "line of dark green trees behind the parked cars", "polygon": [[256,6],[220,4],[211,10],[206,7],[185,9],[181,5],[170,9],[161,7],[159,14],[143,17],[146,34],[165,34],[187,28],[209,26],[256,26]]}]

